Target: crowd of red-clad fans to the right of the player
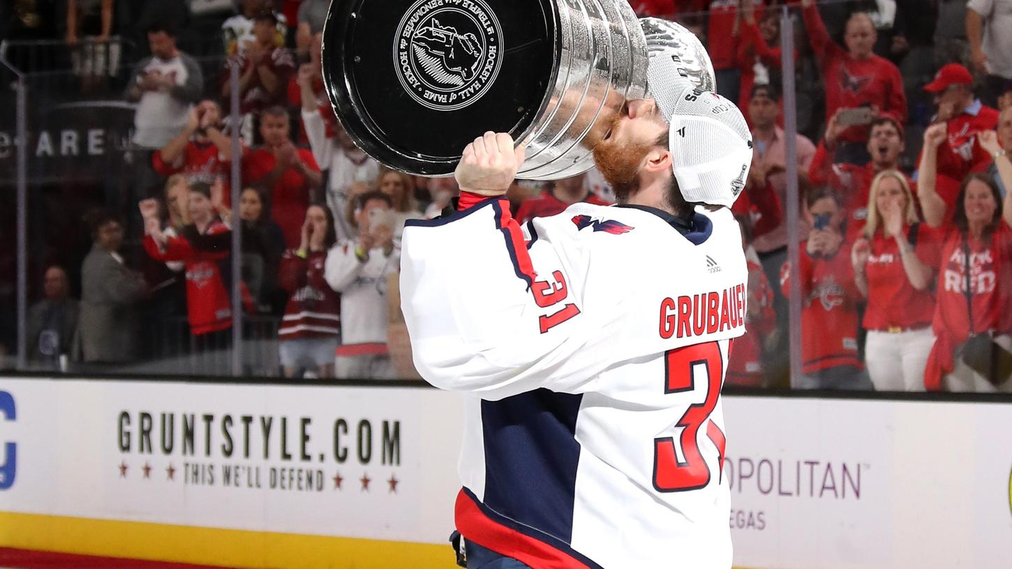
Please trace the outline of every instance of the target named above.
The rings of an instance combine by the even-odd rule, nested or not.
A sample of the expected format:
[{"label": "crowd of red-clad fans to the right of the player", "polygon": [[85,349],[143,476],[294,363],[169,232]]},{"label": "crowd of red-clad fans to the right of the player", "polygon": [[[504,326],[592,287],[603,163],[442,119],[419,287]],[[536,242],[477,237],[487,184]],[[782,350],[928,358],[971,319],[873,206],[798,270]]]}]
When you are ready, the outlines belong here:
[{"label": "crowd of red-clad fans to the right of the player", "polygon": [[[765,80],[780,66],[774,52],[779,29],[770,3],[723,4],[723,10],[740,12],[734,35],[747,59],[736,74],[727,60],[714,58],[715,68],[745,87],[730,89],[728,81],[719,88],[739,97],[755,140],[736,210],[751,222],[750,254],[768,280],[779,274],[781,284],[773,291],[776,325],[770,334],[761,310],[749,314],[766,344],[760,347],[764,356],[756,358],[751,346],[732,353],[732,371],[735,364],[762,366],[761,374],[733,375],[729,382],[784,384],[785,297],[796,275],[799,387],[1012,391],[1012,248],[1006,236],[1012,200],[1004,191],[1012,175],[1005,156],[1012,145],[1012,70],[1004,65],[1012,44],[1001,31],[1012,2],[796,5],[795,36],[807,37],[794,42],[798,78],[811,62],[821,89],[796,93],[804,241],[794,271],[784,263],[779,82]],[[847,11],[830,19],[834,8]],[[951,25],[954,17],[961,37]],[[828,30],[831,21],[841,29]],[[765,27],[756,29],[756,22]],[[713,33],[713,17],[708,26]],[[937,41],[925,54],[932,49],[925,41],[929,27]],[[824,120],[806,124],[806,103],[815,107],[820,100]],[[750,282],[757,291],[763,286]],[[764,305],[759,292],[750,300]]]}]

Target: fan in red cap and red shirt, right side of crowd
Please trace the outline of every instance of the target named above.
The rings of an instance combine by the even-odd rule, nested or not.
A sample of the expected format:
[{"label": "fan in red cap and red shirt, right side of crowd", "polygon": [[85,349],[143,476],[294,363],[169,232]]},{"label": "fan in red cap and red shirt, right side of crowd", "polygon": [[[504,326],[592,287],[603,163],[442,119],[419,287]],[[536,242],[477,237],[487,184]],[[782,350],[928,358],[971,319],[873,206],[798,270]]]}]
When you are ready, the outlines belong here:
[{"label": "fan in red cap and red shirt, right side of crowd", "polygon": [[977,141],[977,134],[998,127],[998,110],[984,105],[974,95],[974,76],[959,64],[943,66],[934,81],[924,86],[934,94],[938,106],[936,123],[946,127],[946,139],[938,148],[938,175],[951,180],[949,210],[954,204],[955,189],[973,172],[984,172],[992,158]]}]

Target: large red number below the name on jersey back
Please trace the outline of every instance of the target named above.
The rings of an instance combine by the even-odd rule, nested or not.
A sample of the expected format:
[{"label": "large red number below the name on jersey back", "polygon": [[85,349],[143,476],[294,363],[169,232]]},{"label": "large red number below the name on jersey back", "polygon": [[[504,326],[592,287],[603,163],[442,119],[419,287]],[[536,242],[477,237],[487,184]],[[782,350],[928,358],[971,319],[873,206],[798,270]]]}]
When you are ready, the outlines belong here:
[{"label": "large red number below the name on jersey back", "polygon": [[[669,350],[664,354],[664,392],[684,393],[696,389],[697,381],[705,384],[706,397],[701,403],[689,405],[676,426],[682,428],[678,442],[674,437],[654,439],[654,488],[659,492],[697,490],[709,484],[709,465],[699,452],[698,434],[703,424],[706,436],[716,447],[718,472],[724,472],[725,437],[709,418],[721,396],[724,380],[724,359],[715,342]],[[675,445],[681,449],[679,459]]]}]

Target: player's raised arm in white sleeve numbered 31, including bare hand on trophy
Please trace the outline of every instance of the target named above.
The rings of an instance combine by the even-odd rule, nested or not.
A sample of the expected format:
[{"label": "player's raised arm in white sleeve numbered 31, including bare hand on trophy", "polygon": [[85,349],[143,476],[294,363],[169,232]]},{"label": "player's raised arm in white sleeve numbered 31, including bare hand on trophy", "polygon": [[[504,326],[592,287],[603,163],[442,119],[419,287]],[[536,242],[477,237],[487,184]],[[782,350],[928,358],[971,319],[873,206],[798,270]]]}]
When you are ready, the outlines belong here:
[{"label": "player's raised arm in white sleeve numbered 31, including bare hand on trophy", "polygon": [[437,387],[499,399],[539,387],[577,391],[593,375],[575,372],[573,356],[594,329],[574,290],[578,277],[552,244],[528,251],[502,198],[522,153],[505,134],[476,140],[456,172],[466,209],[405,228],[401,308],[415,366]]}]

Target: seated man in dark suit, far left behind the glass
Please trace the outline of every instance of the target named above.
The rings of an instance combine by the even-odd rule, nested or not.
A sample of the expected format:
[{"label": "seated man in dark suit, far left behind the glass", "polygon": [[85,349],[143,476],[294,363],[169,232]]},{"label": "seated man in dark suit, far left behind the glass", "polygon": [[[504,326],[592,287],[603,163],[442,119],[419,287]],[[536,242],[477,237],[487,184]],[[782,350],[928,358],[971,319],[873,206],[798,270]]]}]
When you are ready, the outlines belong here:
[{"label": "seated man in dark suit, far left behind the glass", "polygon": [[28,358],[52,369],[60,356],[71,353],[80,306],[70,297],[67,271],[59,265],[46,270],[43,290],[46,298],[28,308]]}]

